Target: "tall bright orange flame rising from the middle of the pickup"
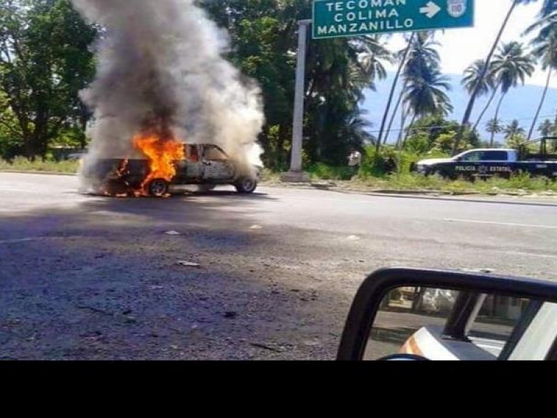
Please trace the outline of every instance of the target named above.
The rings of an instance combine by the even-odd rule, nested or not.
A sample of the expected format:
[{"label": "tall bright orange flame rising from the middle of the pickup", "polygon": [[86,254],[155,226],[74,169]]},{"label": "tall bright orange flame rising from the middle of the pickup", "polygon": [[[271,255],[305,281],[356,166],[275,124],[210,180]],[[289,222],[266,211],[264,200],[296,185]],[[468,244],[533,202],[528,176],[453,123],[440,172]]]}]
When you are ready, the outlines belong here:
[{"label": "tall bright orange flame rising from the middle of the pickup", "polygon": [[141,184],[141,194],[148,195],[147,187],[152,180],[171,182],[176,176],[175,161],[184,160],[184,144],[175,139],[163,139],[153,134],[138,134],[133,139],[134,147],[149,161],[149,175]]}]

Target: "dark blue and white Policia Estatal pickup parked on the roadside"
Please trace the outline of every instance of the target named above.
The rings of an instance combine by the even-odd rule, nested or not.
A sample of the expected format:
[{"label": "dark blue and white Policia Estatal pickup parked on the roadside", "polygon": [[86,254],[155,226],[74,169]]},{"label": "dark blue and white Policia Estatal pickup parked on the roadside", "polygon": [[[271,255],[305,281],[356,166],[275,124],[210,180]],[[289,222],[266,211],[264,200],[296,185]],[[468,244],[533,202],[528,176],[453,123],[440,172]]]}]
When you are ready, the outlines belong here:
[{"label": "dark blue and white Policia Estatal pickup parked on the roadside", "polygon": [[[543,144],[545,146],[545,141]],[[426,176],[438,174],[450,179],[509,178],[513,173],[530,173],[531,176],[556,179],[557,155],[548,154],[545,148],[539,154],[511,148],[478,148],[452,158],[419,161],[414,164],[413,171]]]}]

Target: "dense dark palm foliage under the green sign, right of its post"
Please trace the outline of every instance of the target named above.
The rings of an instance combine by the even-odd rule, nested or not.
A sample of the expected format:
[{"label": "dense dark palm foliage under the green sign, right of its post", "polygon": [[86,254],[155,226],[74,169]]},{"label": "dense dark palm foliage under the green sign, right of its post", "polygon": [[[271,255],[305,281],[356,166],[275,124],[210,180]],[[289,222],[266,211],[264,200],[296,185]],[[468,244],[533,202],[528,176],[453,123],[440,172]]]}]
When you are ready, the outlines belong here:
[{"label": "dense dark palm foliage under the green sign, right of its post", "polygon": [[377,36],[310,43],[305,129],[312,132],[306,143],[312,160],[338,164],[354,145],[341,132],[358,116],[365,89],[385,77],[389,56]]}]

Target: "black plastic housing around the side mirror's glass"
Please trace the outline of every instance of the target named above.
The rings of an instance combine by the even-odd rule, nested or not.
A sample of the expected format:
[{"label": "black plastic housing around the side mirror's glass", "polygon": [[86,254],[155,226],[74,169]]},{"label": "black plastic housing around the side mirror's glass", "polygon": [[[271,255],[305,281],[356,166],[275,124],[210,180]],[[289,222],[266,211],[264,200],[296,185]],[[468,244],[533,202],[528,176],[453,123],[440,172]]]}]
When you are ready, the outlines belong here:
[{"label": "black plastic housing around the side mirror's glass", "polygon": [[363,359],[370,330],[383,297],[395,288],[441,288],[466,293],[528,298],[557,303],[557,283],[520,277],[464,272],[460,270],[424,270],[387,268],[370,274],[354,297],[343,332],[337,359]]}]

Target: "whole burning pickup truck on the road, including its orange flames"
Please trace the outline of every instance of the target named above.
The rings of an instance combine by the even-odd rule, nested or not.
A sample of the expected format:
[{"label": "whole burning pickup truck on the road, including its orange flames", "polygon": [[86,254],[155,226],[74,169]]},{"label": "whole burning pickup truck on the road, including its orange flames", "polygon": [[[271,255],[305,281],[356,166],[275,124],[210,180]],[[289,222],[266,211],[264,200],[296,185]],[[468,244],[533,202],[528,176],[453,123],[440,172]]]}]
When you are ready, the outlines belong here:
[{"label": "whole burning pickup truck on the road, including its orange flames", "polygon": [[213,144],[141,137],[134,139],[134,146],[144,157],[86,160],[81,178],[88,191],[106,196],[164,197],[182,185],[198,185],[202,190],[233,185],[237,192],[251,194],[262,169],[245,167]]}]

